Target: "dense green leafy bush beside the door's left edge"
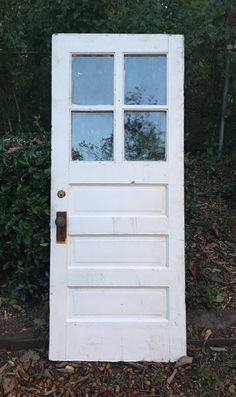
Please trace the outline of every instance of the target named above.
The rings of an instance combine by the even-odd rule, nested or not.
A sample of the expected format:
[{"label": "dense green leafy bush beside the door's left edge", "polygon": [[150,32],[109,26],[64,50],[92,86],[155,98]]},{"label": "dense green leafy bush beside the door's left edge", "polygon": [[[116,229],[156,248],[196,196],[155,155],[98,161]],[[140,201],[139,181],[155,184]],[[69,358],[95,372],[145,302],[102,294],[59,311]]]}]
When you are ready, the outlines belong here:
[{"label": "dense green leafy bush beside the door's left edge", "polygon": [[0,157],[1,269],[11,296],[38,302],[48,291],[49,134],[2,138]]}]

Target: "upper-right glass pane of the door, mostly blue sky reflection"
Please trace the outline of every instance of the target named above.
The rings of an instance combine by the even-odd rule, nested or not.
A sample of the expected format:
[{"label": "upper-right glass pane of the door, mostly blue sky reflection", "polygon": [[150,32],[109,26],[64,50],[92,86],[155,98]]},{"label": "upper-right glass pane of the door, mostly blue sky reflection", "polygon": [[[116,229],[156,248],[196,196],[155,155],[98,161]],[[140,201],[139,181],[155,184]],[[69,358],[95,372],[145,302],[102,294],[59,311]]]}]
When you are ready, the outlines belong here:
[{"label": "upper-right glass pane of the door, mostly blue sky reflection", "polygon": [[125,56],[125,103],[166,104],[166,56]]}]

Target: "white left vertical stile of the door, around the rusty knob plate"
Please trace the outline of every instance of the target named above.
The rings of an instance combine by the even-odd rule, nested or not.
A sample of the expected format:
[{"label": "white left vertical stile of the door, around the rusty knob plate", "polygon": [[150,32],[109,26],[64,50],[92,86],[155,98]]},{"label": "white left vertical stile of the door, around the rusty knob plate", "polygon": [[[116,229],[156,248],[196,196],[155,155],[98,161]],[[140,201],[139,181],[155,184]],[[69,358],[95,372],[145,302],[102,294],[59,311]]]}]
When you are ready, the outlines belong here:
[{"label": "white left vertical stile of the door, around the rusty knob plate", "polygon": [[[68,164],[70,139],[69,54],[61,51],[60,38],[52,39],[52,169],[51,169],[51,268],[50,268],[50,359],[66,356],[66,306],[68,244],[56,243],[56,212],[68,211]],[[66,95],[65,93],[68,93]],[[57,192],[63,190],[65,197]]]}]

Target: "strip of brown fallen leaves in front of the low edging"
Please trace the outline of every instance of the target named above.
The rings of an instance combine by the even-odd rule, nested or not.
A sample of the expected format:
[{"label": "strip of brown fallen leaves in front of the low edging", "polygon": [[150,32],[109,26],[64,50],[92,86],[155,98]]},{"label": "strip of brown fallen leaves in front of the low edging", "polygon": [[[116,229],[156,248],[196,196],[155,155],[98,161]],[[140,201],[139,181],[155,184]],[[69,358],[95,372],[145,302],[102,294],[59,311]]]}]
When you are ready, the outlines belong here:
[{"label": "strip of brown fallen leaves in front of the low edging", "polygon": [[[193,358],[193,360],[192,360]],[[0,396],[201,397],[236,395],[232,347],[189,347],[176,364],[50,362],[47,352],[0,353]]]}]

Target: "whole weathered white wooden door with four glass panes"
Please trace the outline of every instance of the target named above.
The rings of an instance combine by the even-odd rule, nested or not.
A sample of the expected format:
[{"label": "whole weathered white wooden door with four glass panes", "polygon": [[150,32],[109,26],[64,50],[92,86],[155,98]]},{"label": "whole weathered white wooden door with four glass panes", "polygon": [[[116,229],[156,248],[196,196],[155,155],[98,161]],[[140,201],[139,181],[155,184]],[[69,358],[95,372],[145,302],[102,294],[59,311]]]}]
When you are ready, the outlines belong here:
[{"label": "whole weathered white wooden door with four glass panes", "polygon": [[50,359],[174,361],[186,353],[183,37],[52,44]]}]

